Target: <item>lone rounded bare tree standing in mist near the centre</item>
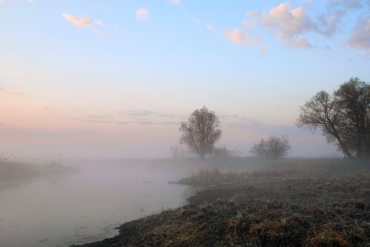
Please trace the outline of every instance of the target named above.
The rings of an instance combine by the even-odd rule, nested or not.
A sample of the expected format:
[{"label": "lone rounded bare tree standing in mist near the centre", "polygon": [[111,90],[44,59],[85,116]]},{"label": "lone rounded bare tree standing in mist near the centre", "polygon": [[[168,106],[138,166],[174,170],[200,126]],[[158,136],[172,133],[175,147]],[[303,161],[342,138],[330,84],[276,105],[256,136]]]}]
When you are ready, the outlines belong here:
[{"label": "lone rounded bare tree standing in mist near the centre", "polygon": [[214,144],[221,137],[222,130],[219,127],[221,122],[215,112],[203,106],[193,111],[188,121],[181,122],[180,144],[186,144],[189,151],[204,158],[212,152]]}]

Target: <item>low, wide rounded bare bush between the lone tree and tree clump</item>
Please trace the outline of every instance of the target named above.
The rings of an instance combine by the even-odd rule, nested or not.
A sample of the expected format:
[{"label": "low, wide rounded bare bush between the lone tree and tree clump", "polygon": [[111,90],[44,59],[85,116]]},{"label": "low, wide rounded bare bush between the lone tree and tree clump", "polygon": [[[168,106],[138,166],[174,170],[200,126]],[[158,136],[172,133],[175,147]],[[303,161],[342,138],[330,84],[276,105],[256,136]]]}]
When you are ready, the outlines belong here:
[{"label": "low, wide rounded bare bush between the lone tree and tree clump", "polygon": [[255,143],[250,152],[259,157],[282,158],[291,150],[289,139],[286,135],[282,137],[269,136],[267,141],[262,139]]}]

